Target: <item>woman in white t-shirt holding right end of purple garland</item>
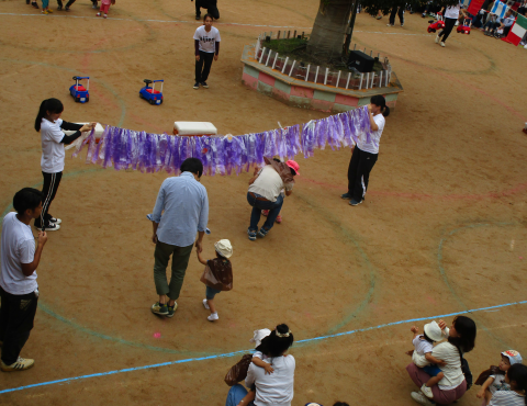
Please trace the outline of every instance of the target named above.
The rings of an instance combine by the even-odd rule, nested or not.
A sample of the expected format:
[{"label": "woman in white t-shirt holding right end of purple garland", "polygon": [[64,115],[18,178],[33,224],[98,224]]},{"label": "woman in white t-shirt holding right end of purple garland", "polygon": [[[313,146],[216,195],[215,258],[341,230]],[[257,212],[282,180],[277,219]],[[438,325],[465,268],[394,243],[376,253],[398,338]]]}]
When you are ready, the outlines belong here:
[{"label": "woman in white t-shirt holding right end of purple garland", "polygon": [[365,200],[370,172],[379,157],[379,143],[384,129],[390,108],[384,97],[378,94],[370,99],[368,115],[370,117],[370,137],[361,134],[355,146],[348,166],[348,191],[340,198],[349,200],[349,204],[356,206]]}]

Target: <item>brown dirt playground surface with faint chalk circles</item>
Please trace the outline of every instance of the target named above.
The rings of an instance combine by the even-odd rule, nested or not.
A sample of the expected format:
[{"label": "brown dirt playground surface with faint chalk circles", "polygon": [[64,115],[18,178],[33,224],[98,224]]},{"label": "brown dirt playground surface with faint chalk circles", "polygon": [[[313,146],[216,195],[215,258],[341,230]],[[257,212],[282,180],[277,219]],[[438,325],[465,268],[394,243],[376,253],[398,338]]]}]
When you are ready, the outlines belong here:
[{"label": "brown dirt playground surface with faint chalk circles", "polygon": [[[210,89],[195,91],[200,22],[190,1],[117,1],[108,20],[96,19],[88,0],[51,15],[21,0],[0,2],[2,212],[21,188],[41,188],[33,122],[51,97],[61,99],[67,121],[155,133],[170,132],[175,121],[245,134],[326,116],[240,80],[244,45],[278,26],[309,32],[318,2],[218,3],[220,59]],[[361,13],[354,34],[359,46],[390,57],[404,87],[363,204],[339,199],[349,148],[298,156],[301,176],[282,224],[254,243],[246,234],[250,174],[202,179],[212,230],[205,256],[220,238],[234,246],[234,290],[216,296],[216,323],[201,304],[194,252],[175,317],[149,309],[157,296],[145,216],[168,174],[101,169],[85,165],[86,153],[68,154],[51,211],[63,228],[44,249],[40,307],[22,351],[36,363],[0,375],[0,404],[220,406],[228,391],[223,377],[242,357],[222,354],[249,350],[253,330],[280,323],[306,340],[290,351],[294,406],[412,405],[410,328],[439,315],[474,309],[476,346],[466,358],[475,376],[503,350],[527,354],[527,304],[517,304],[527,300],[527,50],[478,30],[452,33],[441,48],[418,14],[406,13],[404,27],[386,23]],[[75,75],[91,77],[87,104],[68,94]],[[165,80],[162,105],[139,99],[145,78]],[[498,305],[507,306],[487,308]],[[395,322],[403,323],[386,326]],[[345,331],[355,332],[310,340]],[[180,360],[189,362],[173,363]],[[162,365],[141,369],[155,364]],[[111,371],[120,372],[104,375]],[[480,405],[475,393],[458,405]]]}]

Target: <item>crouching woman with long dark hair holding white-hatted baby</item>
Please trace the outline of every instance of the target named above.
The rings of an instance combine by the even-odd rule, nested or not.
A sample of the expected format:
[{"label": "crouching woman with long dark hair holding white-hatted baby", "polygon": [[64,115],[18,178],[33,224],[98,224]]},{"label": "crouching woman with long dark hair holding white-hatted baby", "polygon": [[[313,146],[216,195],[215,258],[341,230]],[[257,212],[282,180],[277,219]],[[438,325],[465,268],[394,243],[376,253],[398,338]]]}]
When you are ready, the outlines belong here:
[{"label": "crouching woman with long dark hair holding white-hatted baby", "polygon": [[[467,392],[467,381],[461,370],[461,360],[463,353],[472,351],[474,348],[476,328],[475,323],[466,316],[456,317],[450,328],[447,327],[445,322],[439,320],[439,327],[448,341],[437,345],[431,351],[433,357],[446,362],[445,366],[439,366],[445,376],[437,385],[431,387],[433,401],[440,405],[449,405],[461,398]],[[430,379],[426,372],[413,362],[406,366],[406,371],[418,387],[422,387]],[[412,392],[411,396],[422,405],[435,405],[421,392]]]}]

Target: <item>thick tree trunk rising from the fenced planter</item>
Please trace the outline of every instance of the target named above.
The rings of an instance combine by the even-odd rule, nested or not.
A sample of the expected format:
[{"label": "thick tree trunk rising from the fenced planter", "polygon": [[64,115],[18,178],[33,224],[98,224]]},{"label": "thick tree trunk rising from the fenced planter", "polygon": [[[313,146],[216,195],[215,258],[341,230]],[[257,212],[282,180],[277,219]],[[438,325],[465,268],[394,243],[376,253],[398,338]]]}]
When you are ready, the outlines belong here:
[{"label": "thick tree trunk rising from the fenced planter", "polygon": [[354,0],[321,0],[307,52],[316,59],[339,60]]}]

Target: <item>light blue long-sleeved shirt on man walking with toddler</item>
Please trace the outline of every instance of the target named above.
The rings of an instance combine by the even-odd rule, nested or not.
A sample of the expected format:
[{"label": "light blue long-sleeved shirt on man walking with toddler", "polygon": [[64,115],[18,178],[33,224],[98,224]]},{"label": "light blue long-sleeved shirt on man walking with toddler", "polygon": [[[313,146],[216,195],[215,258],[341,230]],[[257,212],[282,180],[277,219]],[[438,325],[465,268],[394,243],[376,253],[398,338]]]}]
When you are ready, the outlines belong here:
[{"label": "light blue long-sleeved shirt on man walking with toddler", "polygon": [[178,247],[192,245],[197,230],[205,232],[209,222],[205,187],[190,172],[165,179],[154,212],[147,218],[159,223],[159,241]]}]

